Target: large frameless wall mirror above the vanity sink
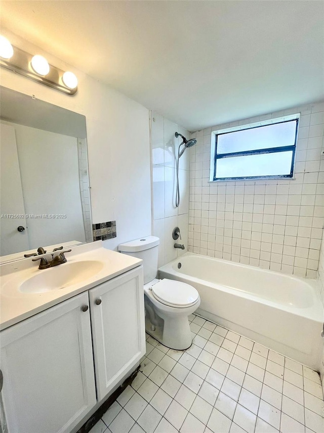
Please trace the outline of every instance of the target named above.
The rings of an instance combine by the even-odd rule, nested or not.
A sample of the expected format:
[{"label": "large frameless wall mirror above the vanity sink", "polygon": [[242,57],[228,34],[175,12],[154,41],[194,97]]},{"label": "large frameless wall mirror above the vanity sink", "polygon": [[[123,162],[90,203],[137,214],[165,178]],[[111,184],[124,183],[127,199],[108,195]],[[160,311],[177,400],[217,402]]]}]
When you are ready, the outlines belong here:
[{"label": "large frameless wall mirror above the vanity sink", "polygon": [[0,104],[0,262],[92,242],[85,116],[5,87]]}]

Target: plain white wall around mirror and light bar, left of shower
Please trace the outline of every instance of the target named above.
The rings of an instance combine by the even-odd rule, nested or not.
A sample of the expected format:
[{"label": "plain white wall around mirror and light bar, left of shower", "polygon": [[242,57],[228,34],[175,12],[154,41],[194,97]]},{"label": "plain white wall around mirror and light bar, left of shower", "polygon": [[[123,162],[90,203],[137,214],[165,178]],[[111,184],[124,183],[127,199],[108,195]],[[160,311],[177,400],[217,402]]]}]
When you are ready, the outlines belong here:
[{"label": "plain white wall around mirror and light bar, left of shower", "polygon": [[[78,77],[74,96],[1,69],[1,84],[86,116],[93,223],[116,220],[121,242],[151,234],[151,180],[148,110],[127,96],[2,29],[13,45],[43,54]],[[62,50],[64,47],[62,47]],[[85,60],[86,61],[86,60]]]}]

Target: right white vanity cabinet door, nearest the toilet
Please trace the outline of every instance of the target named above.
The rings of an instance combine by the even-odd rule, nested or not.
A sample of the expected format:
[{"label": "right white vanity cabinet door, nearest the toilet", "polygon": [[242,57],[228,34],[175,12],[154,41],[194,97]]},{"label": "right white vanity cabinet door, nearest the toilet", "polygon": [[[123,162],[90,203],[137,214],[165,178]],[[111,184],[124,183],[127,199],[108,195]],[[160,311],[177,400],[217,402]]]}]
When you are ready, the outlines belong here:
[{"label": "right white vanity cabinet door, nearest the toilet", "polygon": [[98,401],[145,353],[143,267],[89,290]]}]

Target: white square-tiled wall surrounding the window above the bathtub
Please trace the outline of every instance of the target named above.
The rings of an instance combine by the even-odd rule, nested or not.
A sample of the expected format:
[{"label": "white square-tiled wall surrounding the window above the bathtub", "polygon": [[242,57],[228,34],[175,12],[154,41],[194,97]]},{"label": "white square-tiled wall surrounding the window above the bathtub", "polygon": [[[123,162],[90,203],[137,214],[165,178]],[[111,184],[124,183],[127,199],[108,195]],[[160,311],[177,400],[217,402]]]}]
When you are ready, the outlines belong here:
[{"label": "white square-tiled wall surrounding the window above the bathtub", "polygon": [[[295,179],[209,182],[211,131],[301,113]],[[324,223],[324,103],[194,132],[189,251],[316,278]]]}]

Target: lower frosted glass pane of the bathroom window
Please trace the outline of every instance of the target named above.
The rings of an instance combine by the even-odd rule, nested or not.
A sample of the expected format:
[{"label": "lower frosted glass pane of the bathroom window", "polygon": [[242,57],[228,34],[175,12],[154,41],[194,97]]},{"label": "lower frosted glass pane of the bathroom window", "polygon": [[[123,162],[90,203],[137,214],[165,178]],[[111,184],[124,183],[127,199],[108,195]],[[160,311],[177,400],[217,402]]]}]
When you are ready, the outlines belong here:
[{"label": "lower frosted glass pane of the bathroom window", "polygon": [[293,152],[232,156],[216,160],[216,179],[291,174]]}]

